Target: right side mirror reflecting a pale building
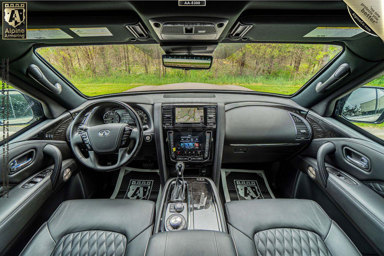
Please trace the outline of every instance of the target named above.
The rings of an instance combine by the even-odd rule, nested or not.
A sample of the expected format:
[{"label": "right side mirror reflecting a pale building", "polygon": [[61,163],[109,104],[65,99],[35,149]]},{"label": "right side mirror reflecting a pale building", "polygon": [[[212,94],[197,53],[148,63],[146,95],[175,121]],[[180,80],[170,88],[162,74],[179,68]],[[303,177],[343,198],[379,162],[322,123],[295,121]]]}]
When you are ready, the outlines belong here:
[{"label": "right side mirror reflecting a pale building", "polygon": [[384,88],[363,86],[345,97],[341,116],[350,122],[384,122]]}]

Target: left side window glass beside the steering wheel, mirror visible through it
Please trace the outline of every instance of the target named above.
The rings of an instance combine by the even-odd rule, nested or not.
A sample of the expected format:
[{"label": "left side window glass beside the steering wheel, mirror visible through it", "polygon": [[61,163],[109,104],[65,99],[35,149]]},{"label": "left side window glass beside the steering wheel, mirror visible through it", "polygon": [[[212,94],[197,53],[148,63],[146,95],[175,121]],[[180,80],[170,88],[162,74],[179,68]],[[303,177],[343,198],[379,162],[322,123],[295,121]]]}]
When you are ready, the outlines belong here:
[{"label": "left side window glass beside the steering wheel, mirror visible through it", "polygon": [[1,107],[0,126],[3,136],[0,140],[5,138],[7,131],[12,135],[44,116],[40,102],[16,89],[9,89],[8,96],[5,91],[3,96],[7,107]]}]

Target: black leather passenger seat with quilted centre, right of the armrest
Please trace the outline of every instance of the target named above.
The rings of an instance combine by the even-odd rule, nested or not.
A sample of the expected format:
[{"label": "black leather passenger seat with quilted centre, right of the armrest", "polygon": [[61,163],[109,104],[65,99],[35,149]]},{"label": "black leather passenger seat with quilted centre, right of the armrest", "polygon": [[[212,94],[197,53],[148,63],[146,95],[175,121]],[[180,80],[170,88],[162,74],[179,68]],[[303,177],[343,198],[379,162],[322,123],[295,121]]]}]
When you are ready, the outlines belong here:
[{"label": "black leather passenger seat with quilted centre, right of the armrest", "polygon": [[361,255],[314,201],[255,199],[225,203],[238,255]]}]

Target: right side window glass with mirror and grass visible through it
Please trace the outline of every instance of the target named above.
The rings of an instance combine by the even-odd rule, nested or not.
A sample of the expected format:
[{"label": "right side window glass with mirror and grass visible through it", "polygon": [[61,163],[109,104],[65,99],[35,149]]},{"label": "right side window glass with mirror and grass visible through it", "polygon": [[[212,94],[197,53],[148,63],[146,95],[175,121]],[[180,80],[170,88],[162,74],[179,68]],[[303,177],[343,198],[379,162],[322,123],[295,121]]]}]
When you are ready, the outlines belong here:
[{"label": "right side window glass with mirror and grass visible through it", "polygon": [[384,76],[339,99],[335,114],[384,140]]}]

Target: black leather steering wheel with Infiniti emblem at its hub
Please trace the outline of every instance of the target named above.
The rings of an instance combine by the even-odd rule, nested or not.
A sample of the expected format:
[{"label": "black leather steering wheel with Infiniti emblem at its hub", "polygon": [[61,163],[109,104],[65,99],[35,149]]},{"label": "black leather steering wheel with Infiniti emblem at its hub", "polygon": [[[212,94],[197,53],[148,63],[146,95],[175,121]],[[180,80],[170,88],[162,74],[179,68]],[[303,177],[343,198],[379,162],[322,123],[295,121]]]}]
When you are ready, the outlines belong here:
[{"label": "black leather steering wheel with Infiniti emblem at its hub", "polygon": [[[80,126],[85,114],[101,105],[116,105],[126,109],[136,122],[136,128],[128,124],[100,124],[92,127]],[[90,114],[92,115],[93,112]],[[80,126],[80,127],[79,127]],[[81,133],[78,132],[78,129]],[[131,153],[128,154],[129,142],[135,141]],[[128,104],[114,99],[102,99],[92,102],[77,114],[70,131],[70,144],[76,158],[87,167],[97,171],[113,171],[131,162],[141,148],[143,126],[136,111]],[[86,145],[89,157],[81,153],[79,146]],[[99,156],[118,154],[116,164],[104,166],[99,164]]]}]

